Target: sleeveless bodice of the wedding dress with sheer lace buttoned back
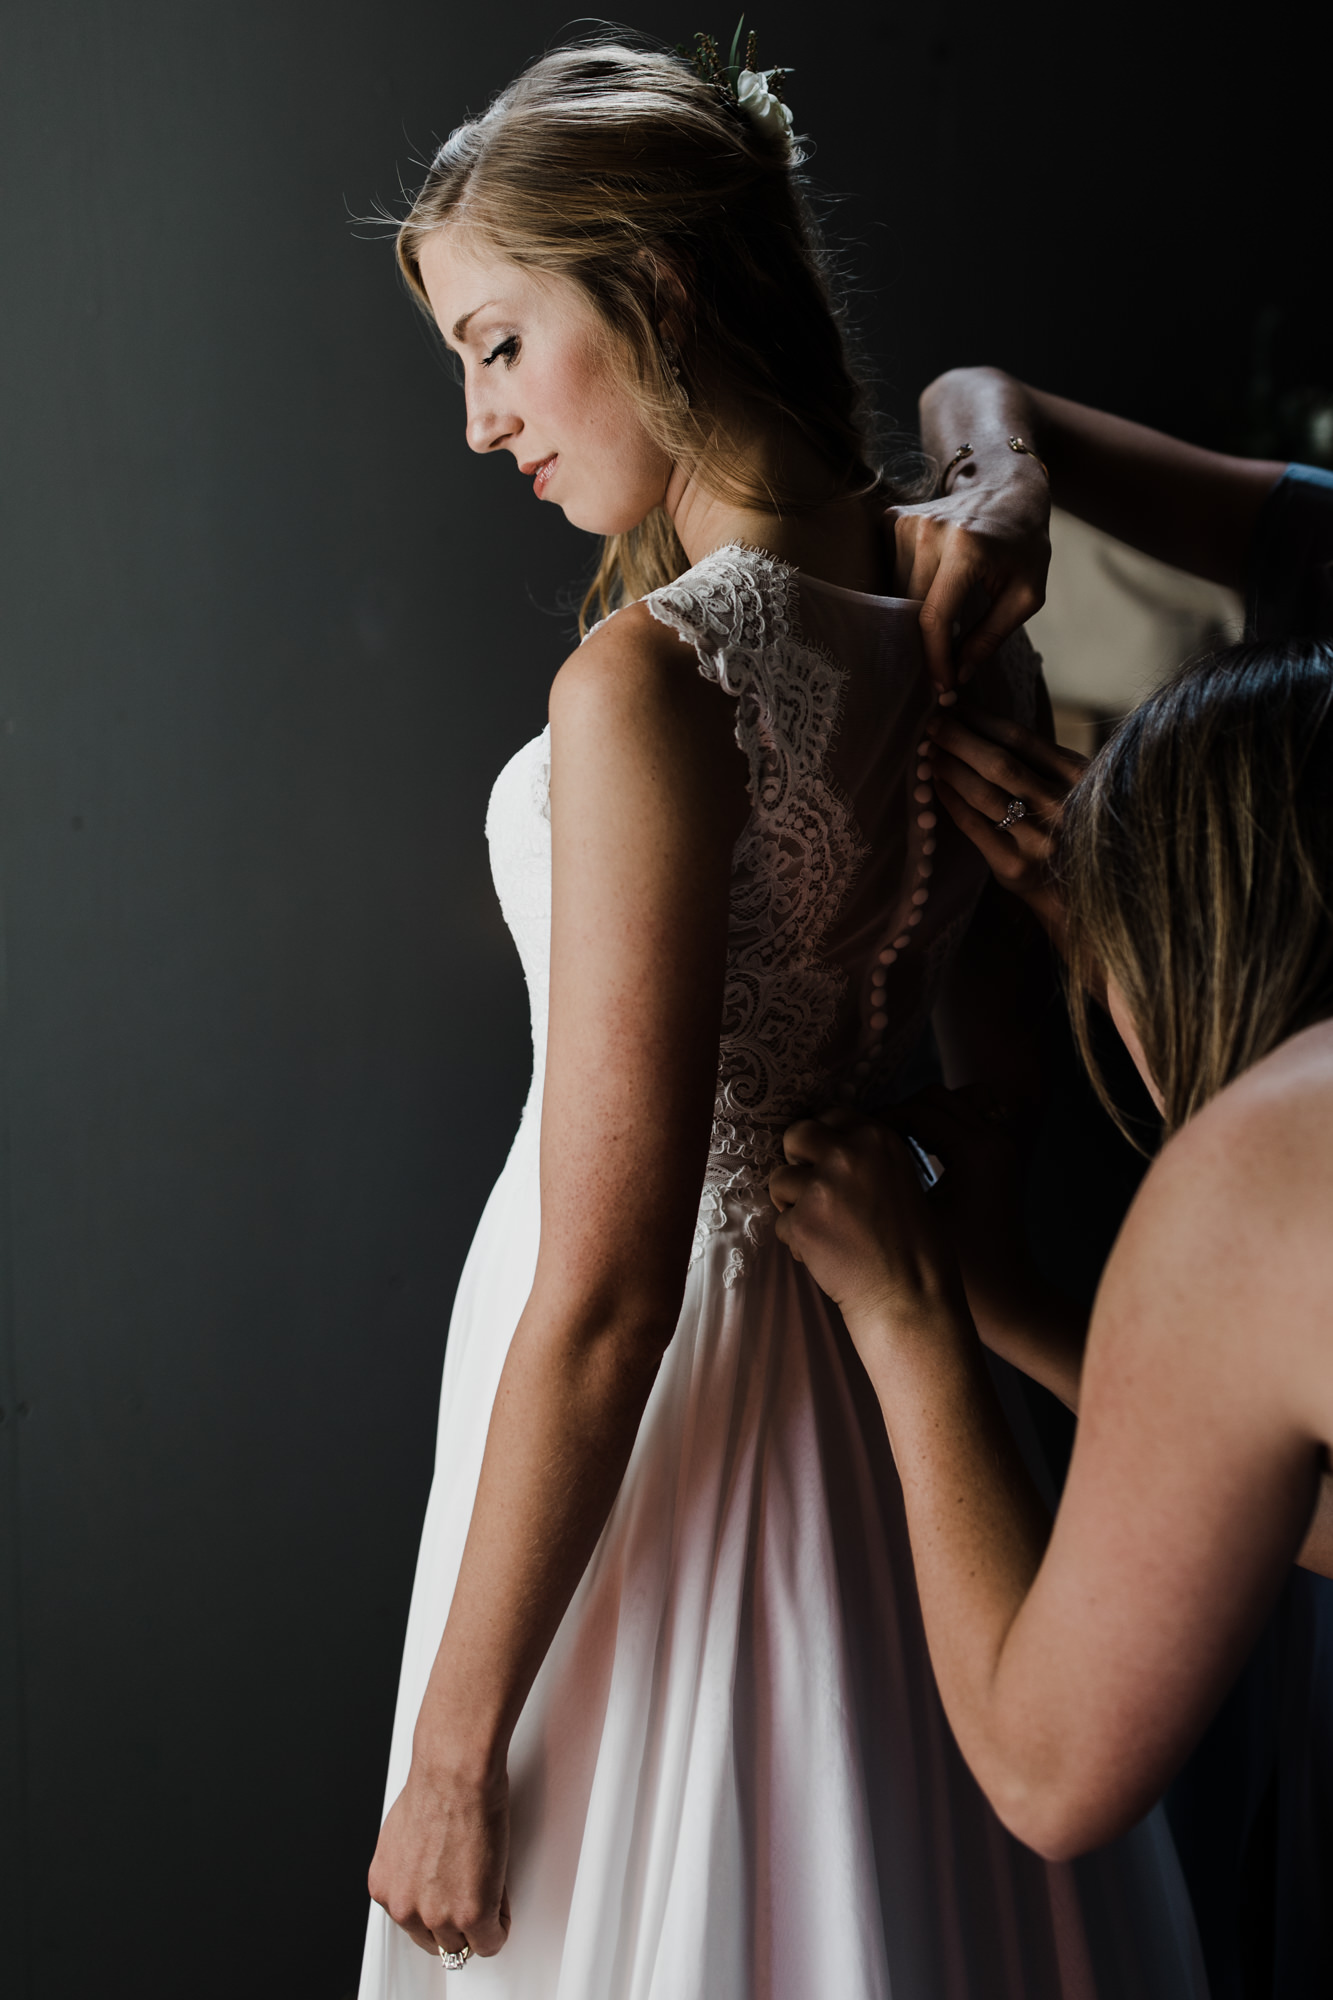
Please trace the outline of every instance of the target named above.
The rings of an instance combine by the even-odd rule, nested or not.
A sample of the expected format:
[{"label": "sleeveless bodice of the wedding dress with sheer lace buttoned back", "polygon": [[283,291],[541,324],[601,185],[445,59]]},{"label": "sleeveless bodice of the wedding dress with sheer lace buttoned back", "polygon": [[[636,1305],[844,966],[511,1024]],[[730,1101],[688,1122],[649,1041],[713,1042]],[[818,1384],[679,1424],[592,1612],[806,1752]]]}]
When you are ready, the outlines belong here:
[{"label": "sleeveless bodice of the wedding dress with sheer lace buttoned back", "polygon": [[[919,764],[933,706],[919,606],[817,584],[721,548],[648,610],[737,702],[751,816],[733,854],[719,1078],[697,1248],[729,1218],[753,1236],[793,1118],[883,1098],[917,1044],[985,882]],[[1037,658],[1003,648],[983,698],[1031,720]],[[490,794],[486,836],[546,1062],[550,736]]]}]

